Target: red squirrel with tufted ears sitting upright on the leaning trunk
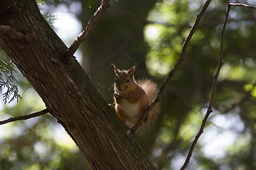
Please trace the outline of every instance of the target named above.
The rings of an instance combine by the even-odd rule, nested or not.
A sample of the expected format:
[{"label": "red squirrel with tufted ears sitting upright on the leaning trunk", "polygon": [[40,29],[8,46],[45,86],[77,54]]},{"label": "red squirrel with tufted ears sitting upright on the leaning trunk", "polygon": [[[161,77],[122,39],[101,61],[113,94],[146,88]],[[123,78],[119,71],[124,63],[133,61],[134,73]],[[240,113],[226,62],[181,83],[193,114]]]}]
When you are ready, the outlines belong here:
[{"label": "red squirrel with tufted ears sitting upright on the leaning trunk", "polygon": [[[113,64],[114,66],[114,64]],[[114,66],[114,108],[118,118],[132,128],[142,117],[144,111],[154,101],[158,92],[157,85],[149,80],[143,79],[138,82],[134,79],[135,66],[129,70],[120,71]],[[145,132],[154,124],[159,113],[159,103],[154,106],[145,118],[138,132]]]}]

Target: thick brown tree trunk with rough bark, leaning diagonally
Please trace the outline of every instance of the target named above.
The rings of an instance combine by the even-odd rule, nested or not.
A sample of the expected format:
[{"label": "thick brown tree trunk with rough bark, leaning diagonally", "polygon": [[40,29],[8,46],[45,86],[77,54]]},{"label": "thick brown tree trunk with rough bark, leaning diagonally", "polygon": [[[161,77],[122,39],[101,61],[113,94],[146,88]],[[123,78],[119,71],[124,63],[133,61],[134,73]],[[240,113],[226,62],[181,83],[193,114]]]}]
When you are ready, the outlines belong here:
[{"label": "thick brown tree trunk with rough bark, leaning diagonally", "polygon": [[0,33],[0,45],[63,125],[94,169],[156,169],[118,120],[33,0],[0,0],[0,25],[25,35]]}]

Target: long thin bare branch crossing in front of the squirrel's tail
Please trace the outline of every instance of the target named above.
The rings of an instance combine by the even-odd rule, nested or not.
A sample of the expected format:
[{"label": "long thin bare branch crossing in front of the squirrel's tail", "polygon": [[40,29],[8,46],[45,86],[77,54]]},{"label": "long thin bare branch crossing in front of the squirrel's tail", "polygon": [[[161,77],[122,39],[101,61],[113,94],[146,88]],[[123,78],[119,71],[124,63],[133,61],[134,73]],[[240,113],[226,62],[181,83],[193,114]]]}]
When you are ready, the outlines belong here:
[{"label": "long thin bare branch crossing in front of the squirrel's tail", "polygon": [[145,111],[144,115],[142,115],[142,118],[139,119],[139,121],[136,123],[136,125],[134,125],[134,127],[132,127],[131,132],[134,134],[134,132],[142,125],[143,120],[146,118],[146,116],[149,114],[149,112],[151,111],[152,108],[154,108],[154,106],[156,106],[156,104],[160,101],[161,95],[164,92],[164,89],[166,89],[167,84],[169,83],[169,81],[171,80],[171,78],[173,77],[174,73],[176,72],[176,70],[178,69],[178,67],[181,65],[181,63],[183,62],[185,55],[186,55],[186,48],[188,47],[188,43],[190,42],[193,33],[195,33],[196,28],[198,26],[199,21],[201,20],[203,14],[205,13],[206,9],[208,8],[209,4],[210,4],[211,0],[207,0],[206,3],[203,5],[203,8],[201,9],[200,13],[197,15],[196,21],[193,24],[190,33],[188,34],[188,37],[186,38],[186,40],[183,43],[183,47],[181,50],[181,54],[178,57],[178,61],[176,62],[176,64],[174,65],[173,69],[171,69],[171,72],[169,72],[168,76],[166,77],[166,79],[164,80],[164,83],[161,85],[159,92],[156,96],[156,98],[154,99],[154,101],[151,103],[151,105],[149,106],[149,108],[147,108],[147,110]]}]

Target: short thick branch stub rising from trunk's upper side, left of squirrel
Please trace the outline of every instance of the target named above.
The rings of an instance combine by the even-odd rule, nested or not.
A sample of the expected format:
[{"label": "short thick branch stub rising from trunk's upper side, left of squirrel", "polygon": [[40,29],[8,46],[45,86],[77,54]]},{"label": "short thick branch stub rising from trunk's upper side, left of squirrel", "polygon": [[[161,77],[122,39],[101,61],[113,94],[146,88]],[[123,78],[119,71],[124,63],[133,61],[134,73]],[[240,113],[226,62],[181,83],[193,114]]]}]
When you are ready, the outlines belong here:
[{"label": "short thick branch stub rising from trunk's upper side, left of squirrel", "polygon": [[110,0],[102,0],[102,4],[97,11],[93,14],[90,21],[87,23],[85,30],[78,35],[73,44],[68,48],[68,50],[63,55],[63,60],[68,62],[69,58],[74,55],[75,51],[78,50],[78,47],[86,40],[86,38],[92,33],[92,30],[95,28],[96,23],[102,17],[102,14],[106,11],[106,9],[110,6]]}]

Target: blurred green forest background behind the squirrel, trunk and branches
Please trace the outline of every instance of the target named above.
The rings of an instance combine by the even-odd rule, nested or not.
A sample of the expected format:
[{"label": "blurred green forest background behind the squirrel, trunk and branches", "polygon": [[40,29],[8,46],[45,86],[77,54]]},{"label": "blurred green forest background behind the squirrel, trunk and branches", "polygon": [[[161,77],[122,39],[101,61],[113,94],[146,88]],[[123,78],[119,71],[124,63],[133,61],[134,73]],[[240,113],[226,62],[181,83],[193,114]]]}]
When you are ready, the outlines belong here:
[{"label": "blurred green forest background behind the squirrel, trunk and branches", "polygon": [[[232,1],[256,6],[256,1]],[[135,79],[159,86],[176,63],[201,0],[110,1],[93,34],[75,56],[107,103],[114,63]],[[100,1],[38,2],[41,13],[69,47]],[[154,128],[137,141],[159,169],[180,169],[208,107],[220,53],[220,29],[227,1],[212,1],[188,45],[186,60],[161,98]],[[233,6],[224,37],[213,113],[187,169],[256,169],[256,10]],[[2,60],[9,62],[3,50]],[[45,108],[26,79],[14,72],[21,99],[0,103],[0,120]],[[4,94],[6,89],[2,89]],[[91,169],[73,140],[50,114],[0,125],[0,169]]]}]

